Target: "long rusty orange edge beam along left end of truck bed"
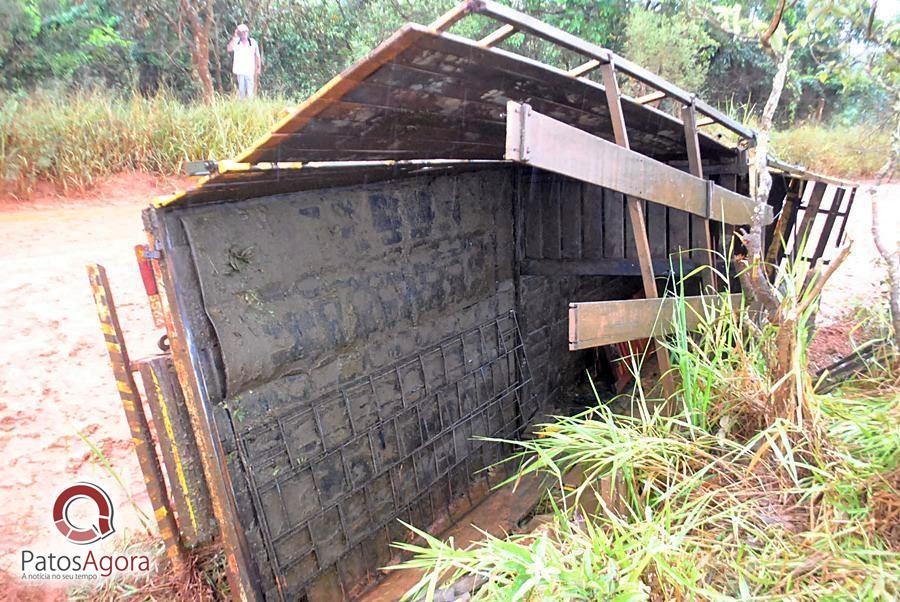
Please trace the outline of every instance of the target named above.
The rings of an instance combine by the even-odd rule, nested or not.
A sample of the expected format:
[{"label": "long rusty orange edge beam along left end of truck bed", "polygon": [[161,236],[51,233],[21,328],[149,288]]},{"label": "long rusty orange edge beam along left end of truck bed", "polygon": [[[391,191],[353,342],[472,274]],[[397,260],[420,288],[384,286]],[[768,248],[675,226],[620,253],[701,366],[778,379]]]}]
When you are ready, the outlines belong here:
[{"label": "long rusty orange edge beam along left end of truck bed", "polygon": [[[155,212],[145,214],[148,241],[151,249],[159,251],[153,260],[153,271],[159,287],[163,313],[166,318],[166,333],[172,351],[172,362],[178,381],[181,383],[185,405],[191,419],[191,426],[200,452],[203,474],[209,488],[213,514],[219,525],[219,532],[225,551],[227,579],[232,597],[237,600],[262,600],[263,593],[251,561],[249,546],[241,530],[237,505],[233,497],[227,462],[211,415],[209,396],[202,384],[202,368],[191,331],[182,315],[184,307],[177,294],[178,287],[173,266],[168,260],[168,231],[164,220]],[[146,223],[146,222],[145,222]],[[159,243],[157,244],[157,238]]]}]

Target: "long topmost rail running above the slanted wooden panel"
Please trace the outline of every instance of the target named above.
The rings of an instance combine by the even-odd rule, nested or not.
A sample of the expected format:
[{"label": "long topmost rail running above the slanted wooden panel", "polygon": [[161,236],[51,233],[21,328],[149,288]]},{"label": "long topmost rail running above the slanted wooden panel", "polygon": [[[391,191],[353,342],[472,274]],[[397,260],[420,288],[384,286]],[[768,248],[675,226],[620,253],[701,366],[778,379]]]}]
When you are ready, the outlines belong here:
[{"label": "long topmost rail running above the slanted wooden panel", "polygon": [[[564,31],[552,25],[548,25],[547,23],[544,23],[539,19],[535,19],[530,15],[521,13],[507,6],[503,6],[502,4],[498,4],[497,2],[493,2],[491,0],[469,0],[466,3],[459,5],[451,12],[462,13],[457,18],[457,20],[468,13],[478,13],[489,16],[502,23],[512,25],[519,31],[530,33],[539,38],[552,42],[557,46],[561,46],[563,48],[566,48],[567,50],[571,50],[573,52],[584,55],[587,58],[600,61],[604,64],[615,62],[617,70],[633,77],[634,79],[650,86],[651,88],[665,92],[667,96],[681,101],[684,104],[689,104],[692,99],[694,99],[694,96],[689,92],[682,90],[675,84],[665,80],[655,73],[648,71],[647,69],[644,69],[643,67],[616,55],[611,50],[608,50],[601,46],[597,46],[596,44],[592,44],[586,40],[568,33],[567,31]],[[441,19],[444,19],[444,17],[442,17]],[[455,23],[455,21],[453,22]],[[715,119],[716,122],[722,124],[724,127],[738,134],[742,138],[746,138],[748,140],[754,140],[756,138],[756,134],[753,130],[728,117],[721,111],[700,100],[695,100],[695,103],[697,110],[700,113],[703,113],[707,117]]]}]

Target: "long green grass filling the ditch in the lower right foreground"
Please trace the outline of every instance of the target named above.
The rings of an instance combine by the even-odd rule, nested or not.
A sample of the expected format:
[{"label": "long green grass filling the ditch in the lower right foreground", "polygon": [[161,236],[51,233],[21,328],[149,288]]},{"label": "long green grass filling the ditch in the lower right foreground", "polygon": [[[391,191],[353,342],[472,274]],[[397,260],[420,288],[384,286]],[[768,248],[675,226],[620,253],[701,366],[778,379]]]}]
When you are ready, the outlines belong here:
[{"label": "long green grass filling the ditch in the lower right foreground", "polygon": [[[746,307],[708,308],[668,343],[673,415],[638,388],[633,416],[598,404],[511,442],[513,480],[557,482],[544,524],[466,549],[413,528],[418,543],[396,544],[411,557],[395,568],[424,570],[408,598],[466,579],[478,600],[897,599],[900,391],[888,372],[814,394],[807,333],[802,412],[760,427],[772,333]],[[574,489],[570,471],[584,474]]]}]

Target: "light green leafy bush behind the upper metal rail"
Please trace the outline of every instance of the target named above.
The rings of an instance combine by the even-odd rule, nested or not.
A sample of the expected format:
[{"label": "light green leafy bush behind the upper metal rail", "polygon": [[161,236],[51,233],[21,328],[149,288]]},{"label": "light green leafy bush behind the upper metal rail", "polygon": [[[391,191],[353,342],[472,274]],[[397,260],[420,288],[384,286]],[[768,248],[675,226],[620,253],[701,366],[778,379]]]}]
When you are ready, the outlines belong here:
[{"label": "light green leafy bush behind the upper metal rail", "polygon": [[703,87],[717,47],[703,23],[683,13],[636,8],[628,18],[625,56],[686,90]]}]

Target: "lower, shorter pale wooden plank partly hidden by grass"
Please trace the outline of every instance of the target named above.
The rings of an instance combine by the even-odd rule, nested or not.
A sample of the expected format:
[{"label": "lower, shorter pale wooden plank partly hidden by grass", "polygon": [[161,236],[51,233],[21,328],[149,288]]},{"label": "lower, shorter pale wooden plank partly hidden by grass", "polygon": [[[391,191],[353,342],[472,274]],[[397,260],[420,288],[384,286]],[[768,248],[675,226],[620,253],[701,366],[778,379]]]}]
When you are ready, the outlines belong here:
[{"label": "lower, shorter pale wooden plank partly hidden by grass", "polygon": [[[731,295],[733,305],[738,305],[740,299],[740,293]],[[715,295],[686,297],[688,329],[697,327],[705,306],[717,306],[721,300]],[[665,336],[674,330],[672,320],[678,307],[676,301],[665,298],[571,303],[569,350]]]}]

